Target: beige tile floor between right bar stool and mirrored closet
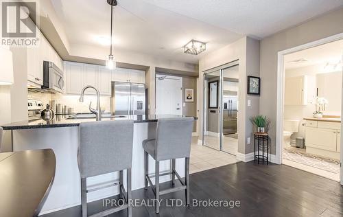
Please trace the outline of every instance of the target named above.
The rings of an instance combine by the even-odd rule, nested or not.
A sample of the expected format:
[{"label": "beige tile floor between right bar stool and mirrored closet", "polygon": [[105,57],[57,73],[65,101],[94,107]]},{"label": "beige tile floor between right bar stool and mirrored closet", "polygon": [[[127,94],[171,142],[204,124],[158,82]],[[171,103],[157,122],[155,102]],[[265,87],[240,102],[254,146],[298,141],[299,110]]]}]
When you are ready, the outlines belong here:
[{"label": "beige tile floor between right bar stool and mirrored closet", "polygon": [[234,155],[198,145],[198,137],[192,138],[190,173],[209,170],[236,162],[237,159]]}]

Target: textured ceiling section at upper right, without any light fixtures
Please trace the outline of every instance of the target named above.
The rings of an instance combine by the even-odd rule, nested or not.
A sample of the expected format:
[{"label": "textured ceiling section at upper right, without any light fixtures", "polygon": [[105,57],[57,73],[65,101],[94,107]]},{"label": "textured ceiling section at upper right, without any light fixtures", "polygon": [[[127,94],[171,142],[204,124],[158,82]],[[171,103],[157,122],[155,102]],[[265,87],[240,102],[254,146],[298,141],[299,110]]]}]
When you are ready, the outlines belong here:
[{"label": "textured ceiling section at upper right, without any light fixtures", "polygon": [[343,0],[143,0],[239,34],[264,38],[343,5]]}]

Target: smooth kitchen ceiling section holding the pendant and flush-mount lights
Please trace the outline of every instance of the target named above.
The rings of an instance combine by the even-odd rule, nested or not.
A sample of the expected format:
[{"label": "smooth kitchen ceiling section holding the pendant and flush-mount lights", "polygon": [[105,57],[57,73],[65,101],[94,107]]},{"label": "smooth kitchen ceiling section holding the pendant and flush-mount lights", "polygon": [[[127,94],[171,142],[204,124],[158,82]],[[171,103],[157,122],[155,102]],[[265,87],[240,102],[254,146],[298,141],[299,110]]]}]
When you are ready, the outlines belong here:
[{"label": "smooth kitchen ceiling section holding the pendant and flush-mount lights", "polygon": [[[106,0],[51,0],[65,27],[71,47],[104,46],[95,38],[110,34],[110,5]],[[182,46],[192,38],[208,43],[207,52],[241,38],[240,34],[169,12],[138,0],[119,0],[115,7],[114,51],[140,52],[198,64]],[[108,47],[109,52],[109,46]],[[104,56],[105,58],[105,56]]]}]

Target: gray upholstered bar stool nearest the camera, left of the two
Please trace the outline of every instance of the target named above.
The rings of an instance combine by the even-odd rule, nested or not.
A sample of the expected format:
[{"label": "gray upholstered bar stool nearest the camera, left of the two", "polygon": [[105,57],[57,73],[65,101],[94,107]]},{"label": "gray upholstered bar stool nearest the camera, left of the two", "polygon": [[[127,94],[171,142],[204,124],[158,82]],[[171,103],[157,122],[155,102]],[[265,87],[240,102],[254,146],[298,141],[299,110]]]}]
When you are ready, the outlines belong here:
[{"label": "gray upholstered bar stool nearest the camera, left of the two", "polygon": [[[114,185],[119,185],[120,196],[126,204],[106,209],[92,216],[107,216],[122,209],[128,209],[128,216],[132,216],[132,207],[128,205],[131,199],[132,142],[133,121],[80,123],[78,165],[81,174],[82,217],[87,216],[87,193]],[[127,193],[123,186],[123,170],[127,170]],[[88,177],[117,171],[119,171],[119,183],[87,190]]]}]

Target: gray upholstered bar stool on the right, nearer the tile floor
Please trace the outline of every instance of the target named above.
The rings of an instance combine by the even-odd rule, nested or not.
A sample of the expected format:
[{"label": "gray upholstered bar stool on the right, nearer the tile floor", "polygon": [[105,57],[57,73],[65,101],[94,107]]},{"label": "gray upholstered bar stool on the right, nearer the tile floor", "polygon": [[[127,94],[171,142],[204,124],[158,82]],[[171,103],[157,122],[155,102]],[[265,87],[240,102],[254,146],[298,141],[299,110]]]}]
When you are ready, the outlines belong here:
[{"label": "gray upholstered bar stool on the right, nearer the tile floor", "polygon": [[[160,195],[185,190],[186,204],[189,205],[189,155],[191,152],[191,134],[193,130],[193,117],[176,117],[158,119],[156,129],[156,139],[143,141],[144,161],[145,161],[145,190],[148,184],[156,196],[156,201]],[[155,187],[149,177],[148,155],[155,160]],[[175,170],[177,158],[185,158],[185,181]],[[171,160],[171,172],[160,174],[160,161]],[[172,187],[161,190],[159,187],[160,176],[171,174]],[[174,187],[175,176],[180,181],[180,187]],[[155,202],[156,213],[160,212],[159,203]]]}]

